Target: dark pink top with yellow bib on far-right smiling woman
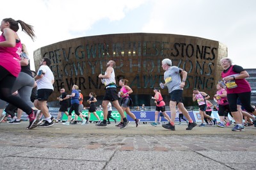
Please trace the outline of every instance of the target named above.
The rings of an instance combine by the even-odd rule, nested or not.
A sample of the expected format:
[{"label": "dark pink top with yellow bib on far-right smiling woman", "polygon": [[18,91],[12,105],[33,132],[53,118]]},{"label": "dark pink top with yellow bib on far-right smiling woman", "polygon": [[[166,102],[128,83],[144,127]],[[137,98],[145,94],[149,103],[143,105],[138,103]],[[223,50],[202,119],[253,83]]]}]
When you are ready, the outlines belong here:
[{"label": "dark pink top with yellow bib on far-right smiling woman", "polygon": [[[224,79],[225,77],[230,76],[236,76],[239,75],[239,73],[236,73],[233,71],[233,66],[230,66],[227,69],[227,72],[224,73],[224,71],[221,73],[221,77]],[[245,93],[252,91],[251,86],[246,79],[236,79],[232,81],[224,81],[225,85],[227,86],[227,94],[231,93]]]}]

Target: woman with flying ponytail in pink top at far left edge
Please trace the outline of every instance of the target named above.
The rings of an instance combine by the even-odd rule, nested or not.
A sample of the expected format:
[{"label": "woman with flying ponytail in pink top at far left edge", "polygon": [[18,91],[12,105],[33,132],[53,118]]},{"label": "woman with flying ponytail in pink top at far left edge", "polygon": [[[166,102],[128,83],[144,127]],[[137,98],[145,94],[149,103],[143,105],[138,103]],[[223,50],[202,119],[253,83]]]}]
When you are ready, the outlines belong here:
[{"label": "woman with flying ponytail in pink top at far left edge", "polygon": [[39,122],[39,111],[33,111],[21,98],[12,95],[12,87],[20,73],[20,54],[22,44],[17,35],[19,24],[22,31],[27,33],[32,40],[35,38],[33,26],[26,24],[22,20],[13,20],[11,18],[3,19],[1,22],[0,36],[0,98],[16,107],[22,109],[28,114],[29,129],[35,128]]}]

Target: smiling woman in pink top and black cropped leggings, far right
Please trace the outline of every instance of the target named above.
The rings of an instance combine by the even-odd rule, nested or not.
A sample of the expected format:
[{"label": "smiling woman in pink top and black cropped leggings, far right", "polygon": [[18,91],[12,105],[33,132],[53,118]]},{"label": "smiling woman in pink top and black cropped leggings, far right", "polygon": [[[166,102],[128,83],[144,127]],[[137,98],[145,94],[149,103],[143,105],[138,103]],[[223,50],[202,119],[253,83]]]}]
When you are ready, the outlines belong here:
[{"label": "smiling woman in pink top and black cropped leggings, far right", "polygon": [[[241,100],[241,104],[246,111],[256,116],[256,109],[251,105],[252,88],[249,82],[246,81],[246,78],[250,77],[250,75],[243,67],[232,65],[230,58],[222,58],[220,64],[223,68],[221,77],[227,87],[228,104],[232,116],[236,121],[236,126],[232,128],[232,131],[243,131],[243,115],[237,111],[237,99],[239,98]],[[256,127],[256,120],[253,123],[254,127]]]}]

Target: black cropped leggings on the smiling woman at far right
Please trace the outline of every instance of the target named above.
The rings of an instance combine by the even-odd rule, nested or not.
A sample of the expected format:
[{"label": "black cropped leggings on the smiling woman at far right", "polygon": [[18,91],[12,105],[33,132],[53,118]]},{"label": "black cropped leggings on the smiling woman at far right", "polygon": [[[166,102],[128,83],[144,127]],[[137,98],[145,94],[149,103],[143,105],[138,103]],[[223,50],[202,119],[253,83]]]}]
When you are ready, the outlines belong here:
[{"label": "black cropped leggings on the smiling woman at far right", "polygon": [[237,111],[237,98],[241,100],[241,104],[243,105],[244,109],[248,112],[254,112],[251,105],[251,92],[246,93],[231,93],[227,95],[228,103],[231,112]]}]

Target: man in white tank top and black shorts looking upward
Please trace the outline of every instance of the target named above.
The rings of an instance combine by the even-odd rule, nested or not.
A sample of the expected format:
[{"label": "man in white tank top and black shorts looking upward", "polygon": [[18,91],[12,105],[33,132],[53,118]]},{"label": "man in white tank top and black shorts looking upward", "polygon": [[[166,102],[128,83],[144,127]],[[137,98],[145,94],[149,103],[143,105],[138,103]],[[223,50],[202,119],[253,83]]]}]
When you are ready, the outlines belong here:
[{"label": "man in white tank top and black shorts looking upward", "polygon": [[102,107],[103,107],[103,114],[104,114],[104,120],[101,121],[99,124],[96,124],[98,127],[106,127],[107,126],[107,118],[108,118],[108,104],[109,102],[112,102],[114,107],[117,109],[119,114],[122,116],[124,123],[122,127],[125,128],[129,124],[129,121],[125,117],[124,111],[122,107],[118,103],[118,95],[116,90],[116,81],[115,81],[115,71],[114,66],[116,65],[115,61],[110,60],[107,63],[107,70],[105,72],[105,75],[102,75],[100,73],[99,78],[102,79],[102,83],[105,85],[106,93],[103,97],[102,101]]}]

